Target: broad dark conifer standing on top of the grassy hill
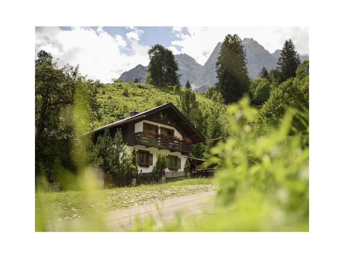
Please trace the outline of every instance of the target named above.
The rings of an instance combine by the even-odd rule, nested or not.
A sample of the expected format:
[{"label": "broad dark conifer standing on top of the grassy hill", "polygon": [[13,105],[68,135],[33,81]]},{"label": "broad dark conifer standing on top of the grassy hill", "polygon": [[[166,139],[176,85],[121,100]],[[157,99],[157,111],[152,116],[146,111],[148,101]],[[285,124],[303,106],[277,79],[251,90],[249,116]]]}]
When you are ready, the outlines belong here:
[{"label": "broad dark conifer standing on top of the grassy hill", "polygon": [[152,84],[180,85],[178,63],[171,50],[156,44],[148,50],[148,55],[148,72],[151,74]]}]

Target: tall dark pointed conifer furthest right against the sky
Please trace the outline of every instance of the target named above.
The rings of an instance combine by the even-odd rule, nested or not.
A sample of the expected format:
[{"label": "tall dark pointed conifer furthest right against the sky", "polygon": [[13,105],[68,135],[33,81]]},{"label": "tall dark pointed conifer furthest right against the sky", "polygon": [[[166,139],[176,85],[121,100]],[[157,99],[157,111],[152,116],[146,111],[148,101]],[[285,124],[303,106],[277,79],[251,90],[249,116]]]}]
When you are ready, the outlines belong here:
[{"label": "tall dark pointed conifer furthest right against the sky", "polygon": [[283,81],[295,77],[296,69],[300,64],[300,55],[296,52],[294,43],[291,39],[286,40],[277,62],[277,65],[279,65],[277,70],[282,73]]}]

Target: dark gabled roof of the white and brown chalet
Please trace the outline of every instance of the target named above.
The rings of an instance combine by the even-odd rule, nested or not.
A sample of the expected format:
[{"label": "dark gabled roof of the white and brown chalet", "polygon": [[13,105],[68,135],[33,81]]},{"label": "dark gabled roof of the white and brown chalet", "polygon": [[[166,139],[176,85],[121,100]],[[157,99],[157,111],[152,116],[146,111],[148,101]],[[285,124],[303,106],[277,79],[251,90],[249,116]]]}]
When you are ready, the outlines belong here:
[{"label": "dark gabled roof of the white and brown chalet", "polygon": [[94,133],[101,130],[105,130],[105,128],[117,127],[117,126],[130,123],[139,119],[144,120],[144,117],[149,116],[151,114],[154,114],[155,112],[159,112],[164,109],[168,110],[171,114],[173,114],[174,117],[178,118],[178,126],[183,127],[183,129],[189,134],[189,138],[193,141],[193,143],[199,143],[199,142],[205,141],[204,136],[192,125],[192,123],[189,120],[186,119],[186,117],[171,102],[149,109],[147,111],[143,111],[132,117],[127,117],[122,120],[118,120],[108,125],[99,127],[91,132]]}]

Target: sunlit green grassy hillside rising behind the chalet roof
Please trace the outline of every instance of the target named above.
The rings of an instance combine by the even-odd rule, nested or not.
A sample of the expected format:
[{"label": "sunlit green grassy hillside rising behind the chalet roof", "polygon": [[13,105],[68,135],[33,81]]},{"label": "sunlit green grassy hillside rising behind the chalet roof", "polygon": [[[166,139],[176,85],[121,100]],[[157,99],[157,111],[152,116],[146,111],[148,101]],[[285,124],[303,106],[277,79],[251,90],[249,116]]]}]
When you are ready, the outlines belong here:
[{"label": "sunlit green grassy hillside rising behind the chalet roof", "polygon": [[[176,105],[182,90],[184,88],[141,83],[103,84],[97,94],[101,117],[96,127],[115,122],[120,116],[128,117],[133,109],[142,112],[168,102]],[[196,97],[201,102],[212,102],[199,93]]]}]

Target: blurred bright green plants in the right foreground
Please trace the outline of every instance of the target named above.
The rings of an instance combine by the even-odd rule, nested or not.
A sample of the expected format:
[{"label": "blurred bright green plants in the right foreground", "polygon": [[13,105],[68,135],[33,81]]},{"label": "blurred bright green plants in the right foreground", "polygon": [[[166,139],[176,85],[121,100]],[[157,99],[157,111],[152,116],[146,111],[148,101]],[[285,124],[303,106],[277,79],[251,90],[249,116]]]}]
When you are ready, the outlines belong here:
[{"label": "blurred bright green plants in the right foreground", "polygon": [[[211,150],[221,183],[216,208],[172,222],[146,219],[136,231],[309,231],[308,110],[289,109],[278,129],[251,132],[256,110],[247,98],[227,109],[232,130]],[[292,127],[302,119],[304,130]]]}]

